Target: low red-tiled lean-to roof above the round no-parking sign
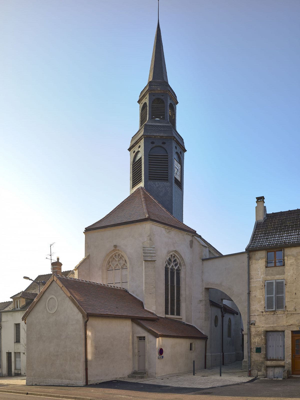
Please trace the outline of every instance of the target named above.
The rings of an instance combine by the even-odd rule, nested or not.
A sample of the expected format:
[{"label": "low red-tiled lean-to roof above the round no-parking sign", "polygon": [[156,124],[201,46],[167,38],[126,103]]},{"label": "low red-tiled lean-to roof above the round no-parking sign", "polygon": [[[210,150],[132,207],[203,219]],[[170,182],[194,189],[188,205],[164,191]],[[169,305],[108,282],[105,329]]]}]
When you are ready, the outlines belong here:
[{"label": "low red-tiled lean-to roof above the round no-parking sign", "polygon": [[136,319],[134,323],[138,324],[157,338],[160,336],[207,339],[207,336],[200,332],[193,325],[184,322],[172,320],[170,318],[159,318],[156,321]]}]

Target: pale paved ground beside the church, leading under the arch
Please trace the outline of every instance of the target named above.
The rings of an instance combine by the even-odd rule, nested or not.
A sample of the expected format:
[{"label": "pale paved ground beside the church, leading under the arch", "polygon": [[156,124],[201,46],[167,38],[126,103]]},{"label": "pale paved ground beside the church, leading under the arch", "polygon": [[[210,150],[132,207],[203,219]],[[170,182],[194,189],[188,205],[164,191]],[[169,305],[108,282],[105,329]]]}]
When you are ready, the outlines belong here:
[{"label": "pale paved ground beside the church, leading under the arch", "polygon": [[222,366],[222,376],[220,367],[198,370],[195,372],[183,372],[160,376],[158,378],[136,379],[122,378],[119,380],[126,382],[145,382],[146,384],[166,385],[182,388],[212,388],[216,386],[232,385],[244,383],[252,380],[253,377],[247,376],[247,371],[242,371],[242,362],[237,361],[229,365]]}]

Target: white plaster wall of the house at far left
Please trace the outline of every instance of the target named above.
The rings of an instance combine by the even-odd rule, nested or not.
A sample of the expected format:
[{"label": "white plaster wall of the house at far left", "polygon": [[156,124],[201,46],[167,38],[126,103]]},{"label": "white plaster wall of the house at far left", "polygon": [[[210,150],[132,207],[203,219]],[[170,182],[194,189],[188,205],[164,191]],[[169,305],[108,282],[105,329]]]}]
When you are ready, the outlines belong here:
[{"label": "white plaster wall of the house at far left", "polygon": [[[2,352],[1,352],[1,373],[7,376],[7,352],[12,353],[12,376],[15,374],[14,352],[21,353],[21,375],[26,375],[26,326],[22,322],[23,311],[2,312]],[[20,343],[14,343],[14,324],[20,324]],[[25,353],[25,354],[24,354]]]}]

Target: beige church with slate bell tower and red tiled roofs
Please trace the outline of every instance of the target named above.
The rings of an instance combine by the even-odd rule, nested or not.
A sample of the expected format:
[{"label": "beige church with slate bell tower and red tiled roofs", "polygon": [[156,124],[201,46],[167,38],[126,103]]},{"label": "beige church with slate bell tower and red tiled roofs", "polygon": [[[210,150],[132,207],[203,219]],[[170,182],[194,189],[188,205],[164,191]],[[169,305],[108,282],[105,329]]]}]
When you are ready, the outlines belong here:
[{"label": "beige church with slate bell tower and red tiled roofs", "polygon": [[28,385],[81,386],[190,371],[193,362],[198,370],[221,356],[223,364],[243,360],[245,312],[224,293],[213,265],[204,279],[204,260],[222,254],[183,222],[186,148],[159,21],[138,104],[129,197],[85,228],[75,278],[53,263],[23,316]]}]

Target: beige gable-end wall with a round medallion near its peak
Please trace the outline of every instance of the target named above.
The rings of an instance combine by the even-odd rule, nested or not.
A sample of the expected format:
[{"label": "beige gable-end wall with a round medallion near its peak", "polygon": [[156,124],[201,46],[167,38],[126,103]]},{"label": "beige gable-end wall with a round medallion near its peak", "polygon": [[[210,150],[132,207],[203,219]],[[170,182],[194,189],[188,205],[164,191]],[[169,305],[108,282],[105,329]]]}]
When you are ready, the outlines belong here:
[{"label": "beige gable-end wall with a round medallion near its peak", "polygon": [[[49,296],[57,310],[46,309]],[[53,300],[53,299],[52,299]],[[27,385],[84,385],[84,318],[52,282],[26,318]]]}]

